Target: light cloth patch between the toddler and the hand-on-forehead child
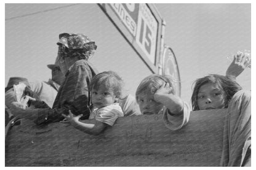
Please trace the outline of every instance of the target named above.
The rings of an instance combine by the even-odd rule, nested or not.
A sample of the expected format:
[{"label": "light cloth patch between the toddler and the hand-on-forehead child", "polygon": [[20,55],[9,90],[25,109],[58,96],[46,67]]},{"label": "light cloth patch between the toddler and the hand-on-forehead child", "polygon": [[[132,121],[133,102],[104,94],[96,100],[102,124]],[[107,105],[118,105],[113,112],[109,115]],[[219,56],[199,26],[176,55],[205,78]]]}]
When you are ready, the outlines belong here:
[{"label": "light cloth patch between the toddler and the hand-on-forehead child", "polygon": [[129,94],[126,98],[119,99],[118,102],[122,108],[122,112],[124,112],[124,116],[142,115],[134,96]]}]

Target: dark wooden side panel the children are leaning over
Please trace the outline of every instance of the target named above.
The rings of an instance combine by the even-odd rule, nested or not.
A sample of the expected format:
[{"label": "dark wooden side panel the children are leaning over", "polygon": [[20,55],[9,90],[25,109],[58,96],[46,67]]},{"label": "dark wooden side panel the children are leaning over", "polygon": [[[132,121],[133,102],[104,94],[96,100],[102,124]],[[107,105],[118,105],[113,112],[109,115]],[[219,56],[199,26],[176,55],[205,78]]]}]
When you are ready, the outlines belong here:
[{"label": "dark wooden side panel the children are leaning over", "polygon": [[162,115],[122,117],[98,136],[22,120],[6,138],[6,166],[219,166],[225,111],[191,112],[177,131]]}]

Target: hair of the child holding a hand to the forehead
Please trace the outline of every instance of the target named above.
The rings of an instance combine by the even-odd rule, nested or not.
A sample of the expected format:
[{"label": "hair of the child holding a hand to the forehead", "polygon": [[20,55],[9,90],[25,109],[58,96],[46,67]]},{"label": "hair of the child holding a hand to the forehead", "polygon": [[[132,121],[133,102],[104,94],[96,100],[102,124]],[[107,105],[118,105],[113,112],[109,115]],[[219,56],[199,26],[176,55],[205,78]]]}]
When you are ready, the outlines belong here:
[{"label": "hair of the child holding a hand to the forehead", "polygon": [[174,87],[172,86],[172,82],[170,81],[169,77],[166,75],[158,75],[158,74],[151,74],[148,77],[144,78],[138,88],[136,90],[135,96],[136,101],[138,102],[138,95],[142,93],[150,93],[154,94],[156,91],[162,87],[162,85],[169,83],[170,87],[172,87],[172,93],[174,94]]}]

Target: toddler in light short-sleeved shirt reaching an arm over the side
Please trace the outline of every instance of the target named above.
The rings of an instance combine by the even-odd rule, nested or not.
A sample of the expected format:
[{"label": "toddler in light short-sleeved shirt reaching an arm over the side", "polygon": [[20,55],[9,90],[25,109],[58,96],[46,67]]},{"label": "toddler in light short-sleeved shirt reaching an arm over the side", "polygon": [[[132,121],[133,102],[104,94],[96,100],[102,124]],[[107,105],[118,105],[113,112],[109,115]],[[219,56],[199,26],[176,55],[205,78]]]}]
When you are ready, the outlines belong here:
[{"label": "toddler in light short-sleeved shirt reaching an arm over the side", "polygon": [[123,82],[121,77],[113,71],[106,71],[95,75],[89,85],[92,94],[92,112],[89,120],[79,121],[82,115],[74,116],[71,111],[64,115],[74,128],[88,134],[100,134],[106,126],[113,126],[118,117],[123,117],[118,98],[121,95]]}]

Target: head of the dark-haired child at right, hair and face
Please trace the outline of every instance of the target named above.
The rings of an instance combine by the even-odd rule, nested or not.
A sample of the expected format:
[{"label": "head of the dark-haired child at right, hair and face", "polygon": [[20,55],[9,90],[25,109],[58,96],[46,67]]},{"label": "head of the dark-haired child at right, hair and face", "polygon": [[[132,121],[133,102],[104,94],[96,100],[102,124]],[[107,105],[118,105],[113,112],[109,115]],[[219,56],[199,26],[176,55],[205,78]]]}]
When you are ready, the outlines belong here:
[{"label": "head of the dark-haired child at right, hair and face", "polygon": [[227,108],[241,86],[229,76],[210,74],[196,80],[191,97],[193,110]]}]

